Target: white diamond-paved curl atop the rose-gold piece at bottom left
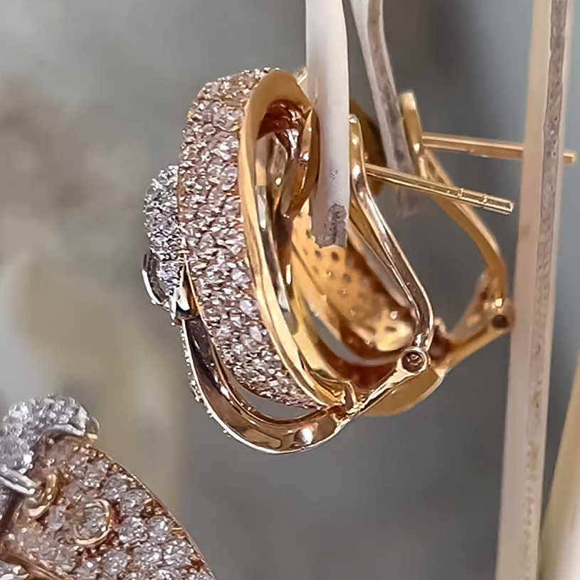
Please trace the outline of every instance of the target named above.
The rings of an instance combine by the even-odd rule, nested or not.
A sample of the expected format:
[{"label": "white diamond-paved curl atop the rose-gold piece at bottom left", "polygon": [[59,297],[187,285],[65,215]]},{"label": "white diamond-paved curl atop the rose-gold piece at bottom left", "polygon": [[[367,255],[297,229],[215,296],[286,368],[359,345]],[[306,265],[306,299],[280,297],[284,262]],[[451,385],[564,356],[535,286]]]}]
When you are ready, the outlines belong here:
[{"label": "white diamond-paved curl atop the rose-gold piece at bottom left", "polygon": [[[83,434],[89,416],[74,399],[46,396],[14,404],[0,423],[0,472],[26,473],[32,466],[33,450],[47,431]],[[0,487],[0,516],[10,497]]]}]

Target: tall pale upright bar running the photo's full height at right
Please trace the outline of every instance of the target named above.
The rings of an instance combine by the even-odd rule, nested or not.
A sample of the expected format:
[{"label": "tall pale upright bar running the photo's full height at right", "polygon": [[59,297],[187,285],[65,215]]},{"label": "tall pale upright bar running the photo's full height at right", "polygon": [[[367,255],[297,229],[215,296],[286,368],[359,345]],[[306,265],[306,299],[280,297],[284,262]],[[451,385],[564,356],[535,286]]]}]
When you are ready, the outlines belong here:
[{"label": "tall pale upright bar running the photo's full height at right", "polygon": [[496,580],[536,580],[571,0],[534,0]]}]

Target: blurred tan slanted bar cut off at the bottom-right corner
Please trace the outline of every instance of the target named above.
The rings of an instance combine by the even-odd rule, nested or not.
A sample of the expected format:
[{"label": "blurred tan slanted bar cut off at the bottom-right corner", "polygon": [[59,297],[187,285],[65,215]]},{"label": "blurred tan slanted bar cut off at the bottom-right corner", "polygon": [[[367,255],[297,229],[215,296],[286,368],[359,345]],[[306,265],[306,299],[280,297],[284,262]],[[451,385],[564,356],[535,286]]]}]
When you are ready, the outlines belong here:
[{"label": "blurred tan slanted bar cut off at the bottom-right corner", "polygon": [[540,579],[580,578],[580,359],[542,526]]}]

